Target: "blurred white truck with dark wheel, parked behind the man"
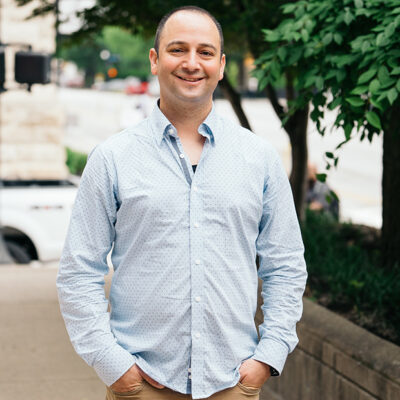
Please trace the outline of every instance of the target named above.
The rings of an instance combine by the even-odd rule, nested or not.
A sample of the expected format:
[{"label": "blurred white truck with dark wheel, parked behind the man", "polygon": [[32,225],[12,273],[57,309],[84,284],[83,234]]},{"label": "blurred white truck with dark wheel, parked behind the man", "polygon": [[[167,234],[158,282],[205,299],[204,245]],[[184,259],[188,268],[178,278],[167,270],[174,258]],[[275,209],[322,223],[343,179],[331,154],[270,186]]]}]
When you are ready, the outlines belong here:
[{"label": "blurred white truck with dark wheel, parked behind the man", "polygon": [[78,182],[0,180],[0,240],[14,262],[60,258]]}]

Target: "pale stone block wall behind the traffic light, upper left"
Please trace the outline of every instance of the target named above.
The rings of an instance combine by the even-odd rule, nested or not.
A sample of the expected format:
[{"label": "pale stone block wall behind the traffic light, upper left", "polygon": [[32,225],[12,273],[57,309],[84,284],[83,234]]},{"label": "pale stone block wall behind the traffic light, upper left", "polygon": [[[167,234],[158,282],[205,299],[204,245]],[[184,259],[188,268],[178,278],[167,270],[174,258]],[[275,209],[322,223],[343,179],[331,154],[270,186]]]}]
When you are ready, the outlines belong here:
[{"label": "pale stone block wall behind the traffic light, upper left", "polygon": [[[1,2],[4,43],[26,43],[34,51],[54,53],[54,16],[25,20],[38,2],[17,7],[14,0]],[[6,48],[6,84],[0,95],[0,178],[64,179],[67,176],[62,144],[64,112],[54,84],[34,85],[32,92],[14,82],[14,53]]]}]

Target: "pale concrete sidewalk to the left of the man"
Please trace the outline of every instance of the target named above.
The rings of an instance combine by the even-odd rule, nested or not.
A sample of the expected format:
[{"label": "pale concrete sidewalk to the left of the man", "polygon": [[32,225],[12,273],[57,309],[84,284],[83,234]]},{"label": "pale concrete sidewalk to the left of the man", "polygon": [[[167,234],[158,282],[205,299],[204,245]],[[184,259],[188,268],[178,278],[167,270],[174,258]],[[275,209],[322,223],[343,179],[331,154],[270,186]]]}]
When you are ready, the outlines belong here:
[{"label": "pale concrete sidewalk to the left of the man", "polygon": [[0,265],[0,399],[99,400],[105,386],[78,357],[61,317],[57,265]]}]

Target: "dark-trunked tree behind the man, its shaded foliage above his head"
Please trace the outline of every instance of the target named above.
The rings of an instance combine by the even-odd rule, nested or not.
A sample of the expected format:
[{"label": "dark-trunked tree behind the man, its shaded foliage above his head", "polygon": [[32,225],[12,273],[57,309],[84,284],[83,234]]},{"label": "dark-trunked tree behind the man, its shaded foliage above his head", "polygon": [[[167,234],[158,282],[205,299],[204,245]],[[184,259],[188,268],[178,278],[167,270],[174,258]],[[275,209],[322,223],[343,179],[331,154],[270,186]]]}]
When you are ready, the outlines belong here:
[{"label": "dark-trunked tree behind the man, its shaded foliage above his head", "polygon": [[[32,0],[16,0],[20,5]],[[122,0],[97,0],[96,4],[80,13],[83,25],[73,34],[74,40],[100,32],[106,26],[119,26],[132,34],[141,34],[150,37],[154,34],[161,17],[175,7],[186,4],[198,5],[210,11],[221,23],[226,44],[226,53],[250,53],[257,58],[265,50],[266,44],[261,34],[262,28],[275,28],[282,19],[280,5],[287,0],[148,0],[146,2]],[[38,7],[32,12],[32,17],[53,12],[54,4],[48,0],[40,0]],[[294,69],[288,71],[285,84],[285,95],[288,101],[296,97],[293,89],[296,73]],[[240,123],[247,128],[250,124],[241,106],[241,98],[234,85],[224,77],[220,82],[224,96],[230,101]],[[283,121],[284,128],[289,134],[292,148],[292,171],[290,183],[297,214],[303,217],[306,189],[307,169],[307,122],[308,104],[294,113],[289,113],[287,107],[282,106],[274,85],[266,86],[269,97],[278,117]],[[286,103],[286,102],[284,102]]]}]

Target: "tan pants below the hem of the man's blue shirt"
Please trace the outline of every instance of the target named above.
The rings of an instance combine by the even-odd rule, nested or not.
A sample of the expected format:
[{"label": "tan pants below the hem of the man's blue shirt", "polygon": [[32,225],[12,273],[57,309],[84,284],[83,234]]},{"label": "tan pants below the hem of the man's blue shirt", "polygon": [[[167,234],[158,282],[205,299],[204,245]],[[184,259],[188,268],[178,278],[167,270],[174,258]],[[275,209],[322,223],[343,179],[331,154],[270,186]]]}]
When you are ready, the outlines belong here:
[{"label": "tan pants below the hem of the man's blue shirt", "polygon": [[[225,390],[221,390],[207,397],[207,400],[259,400],[259,388],[242,385],[240,382]],[[107,387],[106,400],[191,400],[190,394],[174,392],[171,389],[157,389],[148,382],[143,381],[130,392],[116,393]]]}]

